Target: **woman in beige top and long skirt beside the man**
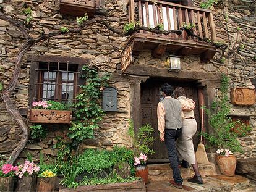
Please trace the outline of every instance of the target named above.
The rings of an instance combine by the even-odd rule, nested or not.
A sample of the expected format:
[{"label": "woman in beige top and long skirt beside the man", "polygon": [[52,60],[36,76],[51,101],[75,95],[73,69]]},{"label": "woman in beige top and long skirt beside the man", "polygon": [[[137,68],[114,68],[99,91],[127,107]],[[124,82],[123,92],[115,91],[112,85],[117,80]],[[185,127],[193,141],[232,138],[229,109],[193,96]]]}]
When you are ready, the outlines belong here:
[{"label": "woman in beige top and long skirt beside the man", "polygon": [[[194,116],[195,102],[192,99],[186,98],[184,88],[177,87],[174,90],[174,98],[181,102],[183,112],[183,127],[182,135],[176,141],[177,154],[181,159],[192,164],[195,172],[193,178],[187,181],[192,183],[203,184],[202,177],[198,170],[197,159],[195,159],[193,136],[197,132],[197,122]],[[192,110],[191,110],[192,109]]]}]

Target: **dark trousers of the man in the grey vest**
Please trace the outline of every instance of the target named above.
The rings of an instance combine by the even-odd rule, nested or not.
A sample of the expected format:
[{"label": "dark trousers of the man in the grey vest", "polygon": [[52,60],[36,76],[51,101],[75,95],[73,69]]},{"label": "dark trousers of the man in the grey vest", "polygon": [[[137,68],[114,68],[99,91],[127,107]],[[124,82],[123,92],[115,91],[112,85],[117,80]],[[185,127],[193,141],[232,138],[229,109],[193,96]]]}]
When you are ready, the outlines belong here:
[{"label": "dark trousers of the man in the grey vest", "polygon": [[175,145],[175,141],[177,140],[177,138],[179,138],[179,136],[181,136],[182,128],[179,128],[178,130],[165,129],[164,132],[164,142],[168,150],[168,157],[171,163],[171,169],[173,169],[173,179],[176,183],[182,184],[183,179],[181,177],[181,172],[179,171],[179,164]]}]

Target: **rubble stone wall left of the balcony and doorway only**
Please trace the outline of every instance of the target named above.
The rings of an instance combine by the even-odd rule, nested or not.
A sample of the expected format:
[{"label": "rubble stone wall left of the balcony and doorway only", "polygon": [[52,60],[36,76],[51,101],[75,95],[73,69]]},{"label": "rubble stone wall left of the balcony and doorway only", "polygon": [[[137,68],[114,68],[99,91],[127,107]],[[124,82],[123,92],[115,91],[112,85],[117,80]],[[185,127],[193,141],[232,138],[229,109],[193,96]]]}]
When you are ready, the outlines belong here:
[{"label": "rubble stone wall left of the balcony and doorway only", "polygon": [[[25,4],[33,10],[33,27],[29,31],[34,38],[40,35],[41,31],[47,33],[49,30],[58,30],[62,26],[73,28],[76,19],[71,16],[59,14],[59,8],[51,1],[4,1],[1,6],[6,14],[19,19],[25,19],[22,10]],[[122,28],[127,23],[126,2],[107,0],[106,7],[109,9],[111,17],[108,21],[117,28]],[[99,16],[100,17],[100,16]],[[0,20],[0,77],[4,85],[9,83],[15,65],[15,56],[20,46],[24,42],[19,30]],[[30,62],[27,56],[70,56],[90,59],[90,65],[96,65],[101,72],[115,72],[117,64],[121,62],[121,51],[124,48],[126,38],[113,34],[102,25],[93,24],[82,30],[81,34],[59,35],[45,42],[33,46],[24,57],[22,70],[19,76],[19,83],[12,94],[12,100],[18,108],[28,107],[28,89]],[[130,85],[125,80],[113,81],[111,86],[118,91],[118,112],[107,112],[100,130],[95,131],[95,140],[86,140],[80,148],[111,148],[114,144],[130,147],[130,139],[127,135],[128,120],[130,119]],[[1,154],[9,154],[19,143],[21,130],[16,125],[12,117],[7,113],[4,103],[1,101],[0,110],[0,148]],[[25,120],[26,117],[24,117]],[[42,150],[44,154],[56,156],[56,137],[62,136],[67,139],[67,126],[48,126],[48,138],[39,142],[30,140],[26,147],[26,152],[38,156]],[[11,147],[10,147],[11,146]],[[20,154],[25,157],[25,152]]]}]

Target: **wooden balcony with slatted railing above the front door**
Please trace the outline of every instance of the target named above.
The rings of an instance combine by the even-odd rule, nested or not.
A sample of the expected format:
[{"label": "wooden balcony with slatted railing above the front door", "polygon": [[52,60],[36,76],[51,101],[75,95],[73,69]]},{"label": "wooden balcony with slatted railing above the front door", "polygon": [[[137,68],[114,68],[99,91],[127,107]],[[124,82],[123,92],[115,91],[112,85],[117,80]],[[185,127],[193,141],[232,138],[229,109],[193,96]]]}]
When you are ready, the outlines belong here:
[{"label": "wooden balcony with slatted railing above the front door", "polygon": [[[190,23],[195,25],[194,34],[209,39],[209,42],[216,41],[211,10],[149,0],[129,0],[128,9],[129,22],[139,21],[144,27],[150,28],[163,24],[164,30],[180,30],[184,24]],[[130,36],[127,44],[132,46],[133,51],[151,49],[155,56],[170,52],[179,56],[197,54],[202,59],[211,59],[216,52],[215,46],[187,35],[186,31],[182,31],[181,35],[159,35],[140,30]]]}]

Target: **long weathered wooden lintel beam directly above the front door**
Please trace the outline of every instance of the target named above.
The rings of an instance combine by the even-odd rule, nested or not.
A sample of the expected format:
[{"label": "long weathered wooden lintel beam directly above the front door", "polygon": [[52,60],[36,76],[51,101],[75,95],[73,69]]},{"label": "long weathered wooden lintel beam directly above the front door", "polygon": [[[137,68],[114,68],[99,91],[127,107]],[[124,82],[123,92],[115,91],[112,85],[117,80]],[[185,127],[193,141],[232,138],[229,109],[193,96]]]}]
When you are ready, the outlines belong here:
[{"label": "long weathered wooden lintel beam directly above the front door", "polygon": [[[121,70],[117,69],[117,73],[121,73]],[[181,70],[180,72],[168,72],[166,68],[149,67],[147,65],[130,65],[125,74],[170,78],[174,80],[207,80],[216,81],[217,83],[221,80],[221,74],[213,74],[207,72],[197,71],[186,71]]]}]

